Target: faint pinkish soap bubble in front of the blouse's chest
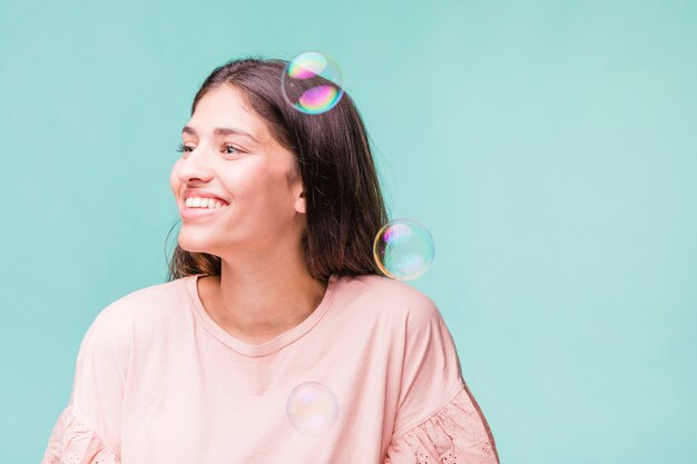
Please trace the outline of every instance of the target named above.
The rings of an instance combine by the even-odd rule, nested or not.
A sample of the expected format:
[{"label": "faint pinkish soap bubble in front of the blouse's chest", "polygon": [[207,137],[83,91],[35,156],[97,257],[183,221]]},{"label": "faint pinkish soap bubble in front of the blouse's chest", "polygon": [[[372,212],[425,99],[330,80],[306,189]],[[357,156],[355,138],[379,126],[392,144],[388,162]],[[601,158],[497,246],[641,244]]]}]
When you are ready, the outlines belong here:
[{"label": "faint pinkish soap bubble in front of the blouse's chest", "polygon": [[338,416],[336,395],[320,382],[293,388],[286,403],[291,424],[303,434],[316,435],[330,428]]}]

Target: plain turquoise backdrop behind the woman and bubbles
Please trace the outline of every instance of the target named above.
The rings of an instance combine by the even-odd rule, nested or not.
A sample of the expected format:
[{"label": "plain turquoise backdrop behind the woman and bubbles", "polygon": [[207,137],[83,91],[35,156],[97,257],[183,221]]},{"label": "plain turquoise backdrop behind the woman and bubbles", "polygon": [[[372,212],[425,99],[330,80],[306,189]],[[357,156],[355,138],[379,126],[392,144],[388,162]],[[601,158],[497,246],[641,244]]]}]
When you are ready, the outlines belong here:
[{"label": "plain turquoise backdrop behind the woman and bubbles", "polygon": [[[166,276],[168,184],[228,59],[332,56],[505,464],[697,462],[697,2],[2,3],[0,461],[85,332]],[[361,463],[366,464],[366,463]]]}]

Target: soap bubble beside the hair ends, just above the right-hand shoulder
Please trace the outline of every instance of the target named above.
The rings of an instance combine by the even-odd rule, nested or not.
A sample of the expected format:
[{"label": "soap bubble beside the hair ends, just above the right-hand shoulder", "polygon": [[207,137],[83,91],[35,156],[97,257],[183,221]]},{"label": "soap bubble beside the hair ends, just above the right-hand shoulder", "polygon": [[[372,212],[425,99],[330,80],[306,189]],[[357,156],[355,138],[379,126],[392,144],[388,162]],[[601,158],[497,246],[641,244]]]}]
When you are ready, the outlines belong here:
[{"label": "soap bubble beside the hair ends, just above the right-hand shoulder", "polygon": [[373,256],[387,277],[411,280],[423,275],[435,254],[433,236],[414,219],[394,219],[375,235]]}]

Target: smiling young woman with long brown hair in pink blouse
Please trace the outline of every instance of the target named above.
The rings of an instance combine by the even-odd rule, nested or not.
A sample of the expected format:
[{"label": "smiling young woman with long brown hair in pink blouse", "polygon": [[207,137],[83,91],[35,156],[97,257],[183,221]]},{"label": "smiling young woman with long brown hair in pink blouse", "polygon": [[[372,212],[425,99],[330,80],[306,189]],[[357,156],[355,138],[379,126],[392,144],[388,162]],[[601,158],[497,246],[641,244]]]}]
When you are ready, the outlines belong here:
[{"label": "smiling young woman with long brown hair in pink blouse", "polygon": [[43,464],[499,462],[439,309],[374,261],[387,215],[353,101],[297,111],[286,65],[198,90],[169,279],[95,318]]}]

